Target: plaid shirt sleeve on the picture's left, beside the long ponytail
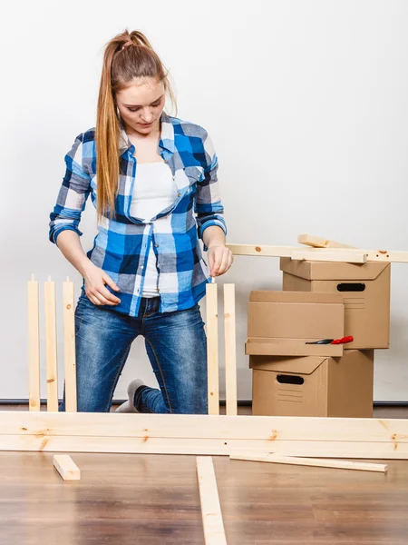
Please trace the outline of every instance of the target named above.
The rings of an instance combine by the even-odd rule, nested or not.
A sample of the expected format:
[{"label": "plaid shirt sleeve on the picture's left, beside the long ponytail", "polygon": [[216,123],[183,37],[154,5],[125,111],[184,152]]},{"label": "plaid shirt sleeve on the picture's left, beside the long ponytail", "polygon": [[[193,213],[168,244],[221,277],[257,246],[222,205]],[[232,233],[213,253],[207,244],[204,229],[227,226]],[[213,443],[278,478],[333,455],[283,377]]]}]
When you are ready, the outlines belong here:
[{"label": "plaid shirt sleeve on the picture's left, beside the long ponytail", "polygon": [[91,192],[91,176],[83,168],[83,134],[80,134],[71,151],[65,155],[66,172],[57,202],[50,214],[49,238],[56,243],[60,233],[71,230],[81,236],[78,229],[81,213]]}]

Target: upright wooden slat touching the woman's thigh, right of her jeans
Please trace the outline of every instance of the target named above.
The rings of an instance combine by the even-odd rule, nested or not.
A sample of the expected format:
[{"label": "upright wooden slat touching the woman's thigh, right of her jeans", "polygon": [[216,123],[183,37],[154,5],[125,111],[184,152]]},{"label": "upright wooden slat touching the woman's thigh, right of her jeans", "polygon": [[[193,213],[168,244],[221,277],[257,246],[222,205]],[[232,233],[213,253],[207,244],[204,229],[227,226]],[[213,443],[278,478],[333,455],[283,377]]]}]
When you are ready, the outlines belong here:
[{"label": "upright wooden slat touching the woman's thigh, right of her jeans", "polygon": [[219,414],[219,309],[217,284],[206,285],[209,414]]}]

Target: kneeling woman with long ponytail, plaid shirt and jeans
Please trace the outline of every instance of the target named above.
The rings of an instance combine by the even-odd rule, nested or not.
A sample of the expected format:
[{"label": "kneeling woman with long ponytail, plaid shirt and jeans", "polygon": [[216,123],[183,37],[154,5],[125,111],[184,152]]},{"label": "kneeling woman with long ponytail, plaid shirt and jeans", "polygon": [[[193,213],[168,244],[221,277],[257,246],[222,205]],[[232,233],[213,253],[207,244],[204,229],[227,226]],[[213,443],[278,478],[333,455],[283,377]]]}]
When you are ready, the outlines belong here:
[{"label": "kneeling woman with long ponytail, plaid shirt and jeans", "polygon": [[[160,390],[132,381],[121,411],[207,412],[198,302],[233,257],[209,135],[165,114],[166,94],[173,98],[146,37],[117,35],[104,52],[96,130],[80,134],[65,157],[50,240],[83,276],[78,411],[110,411],[131,343],[143,335]],[[89,194],[98,234],[85,254],[78,225]]]}]

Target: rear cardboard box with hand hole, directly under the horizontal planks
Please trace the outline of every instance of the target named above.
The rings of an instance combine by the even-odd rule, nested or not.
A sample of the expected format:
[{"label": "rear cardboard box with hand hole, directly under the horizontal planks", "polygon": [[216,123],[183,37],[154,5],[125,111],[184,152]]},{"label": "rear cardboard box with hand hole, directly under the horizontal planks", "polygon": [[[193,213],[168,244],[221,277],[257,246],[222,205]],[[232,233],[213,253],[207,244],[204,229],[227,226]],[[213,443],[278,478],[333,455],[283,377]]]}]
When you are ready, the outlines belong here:
[{"label": "rear cardboard box with hand hole, directly under the horizontal planks", "polygon": [[345,302],[345,349],[389,348],[390,263],[280,260],[285,291],[339,293]]}]

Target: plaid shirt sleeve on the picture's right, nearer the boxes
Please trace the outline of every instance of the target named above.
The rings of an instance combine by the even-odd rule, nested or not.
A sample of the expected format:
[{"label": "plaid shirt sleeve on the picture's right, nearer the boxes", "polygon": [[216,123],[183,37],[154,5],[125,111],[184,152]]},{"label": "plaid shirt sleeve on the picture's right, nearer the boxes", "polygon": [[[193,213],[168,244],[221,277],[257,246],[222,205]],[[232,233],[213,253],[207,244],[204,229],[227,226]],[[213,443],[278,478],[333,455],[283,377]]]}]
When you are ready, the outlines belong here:
[{"label": "plaid shirt sleeve on the picture's right, nearer the boxes", "polygon": [[204,135],[203,145],[205,155],[204,178],[197,183],[195,201],[196,220],[201,240],[204,231],[211,225],[217,225],[227,234],[227,226],[222,217],[224,207],[221,204],[217,177],[219,160],[207,133]]}]

